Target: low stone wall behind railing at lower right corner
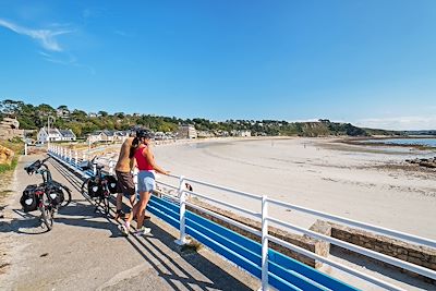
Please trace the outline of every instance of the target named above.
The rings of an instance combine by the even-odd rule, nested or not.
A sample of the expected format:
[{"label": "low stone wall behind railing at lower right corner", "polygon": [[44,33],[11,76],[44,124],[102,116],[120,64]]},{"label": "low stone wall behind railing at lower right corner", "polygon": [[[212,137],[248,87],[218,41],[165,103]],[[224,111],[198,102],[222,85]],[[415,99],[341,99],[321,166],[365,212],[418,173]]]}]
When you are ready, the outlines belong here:
[{"label": "low stone wall behind railing at lower right corner", "polygon": [[[375,234],[372,232],[363,231],[360,229],[353,229],[341,225],[329,222],[331,226],[331,237],[346,241],[391,257],[396,257],[428,269],[436,270],[436,250],[407,243],[400,240],[391,239],[389,237]],[[343,250],[343,248],[342,248]],[[350,251],[348,251],[350,252]],[[372,259],[377,264],[388,265],[389,264]],[[391,266],[393,267],[393,266]],[[408,272],[414,277],[422,277],[408,270],[400,269],[403,272]],[[426,281],[435,283],[435,280],[426,278]]]}]

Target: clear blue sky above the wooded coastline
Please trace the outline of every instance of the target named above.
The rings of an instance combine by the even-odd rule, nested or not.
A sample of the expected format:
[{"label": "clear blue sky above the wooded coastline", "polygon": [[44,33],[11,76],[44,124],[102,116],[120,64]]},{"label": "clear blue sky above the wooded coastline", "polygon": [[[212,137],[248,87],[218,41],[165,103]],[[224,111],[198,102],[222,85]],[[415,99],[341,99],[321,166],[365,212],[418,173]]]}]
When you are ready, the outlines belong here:
[{"label": "clear blue sky above the wooded coastline", "polygon": [[436,1],[0,0],[0,98],[436,129]]}]

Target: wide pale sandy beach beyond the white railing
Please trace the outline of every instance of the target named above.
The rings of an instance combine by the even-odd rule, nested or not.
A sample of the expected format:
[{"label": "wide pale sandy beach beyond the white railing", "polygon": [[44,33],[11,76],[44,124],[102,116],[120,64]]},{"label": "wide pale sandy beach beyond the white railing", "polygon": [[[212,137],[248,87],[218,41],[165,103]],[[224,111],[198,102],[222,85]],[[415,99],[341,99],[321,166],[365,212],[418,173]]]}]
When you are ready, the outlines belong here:
[{"label": "wide pale sandy beach beyond the white railing", "polygon": [[[299,137],[165,145],[155,153],[174,174],[436,239],[436,171],[403,162],[435,153]],[[202,194],[261,211],[254,199],[192,184]],[[283,207],[270,213],[305,228],[315,221]]]}]

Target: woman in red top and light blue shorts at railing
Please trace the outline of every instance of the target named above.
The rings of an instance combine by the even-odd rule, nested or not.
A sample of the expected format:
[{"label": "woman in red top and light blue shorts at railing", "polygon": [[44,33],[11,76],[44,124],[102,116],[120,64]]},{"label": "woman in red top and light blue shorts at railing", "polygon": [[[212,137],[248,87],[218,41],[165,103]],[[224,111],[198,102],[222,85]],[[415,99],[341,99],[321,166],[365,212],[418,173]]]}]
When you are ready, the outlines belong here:
[{"label": "woman in red top and light blue shorts at railing", "polygon": [[135,158],[136,166],[140,169],[137,173],[137,192],[140,193],[140,201],[133,206],[132,214],[121,226],[121,231],[124,235],[129,235],[130,223],[136,216],[137,226],[135,235],[144,235],[152,230],[143,226],[145,207],[148,204],[152,192],[156,189],[155,172],[168,174],[168,171],[162,170],[155,162],[155,156],[150,148],[150,132],[140,130],[136,132],[136,137],[132,142],[130,149],[130,157]]}]

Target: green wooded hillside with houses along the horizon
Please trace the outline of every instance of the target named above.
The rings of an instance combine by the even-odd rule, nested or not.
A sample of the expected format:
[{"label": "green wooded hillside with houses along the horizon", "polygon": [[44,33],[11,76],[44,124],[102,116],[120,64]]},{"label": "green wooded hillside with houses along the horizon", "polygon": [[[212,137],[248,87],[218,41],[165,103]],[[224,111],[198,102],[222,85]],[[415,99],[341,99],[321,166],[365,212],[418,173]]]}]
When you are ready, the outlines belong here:
[{"label": "green wooded hillside with houses along the horizon", "polygon": [[181,124],[192,124],[198,131],[215,133],[249,130],[252,135],[366,136],[371,134],[395,134],[393,132],[361,129],[350,123],[330,122],[329,120],[319,120],[317,122],[226,120],[216,122],[203,118],[180,119],[175,117],[158,117],[150,113],[108,113],[102,110],[90,114],[80,109],[69,109],[64,105],[53,108],[47,104],[34,106],[11,99],[0,102],[0,119],[7,116],[16,118],[21,124],[20,128],[24,130],[39,130],[43,126],[47,126],[48,117],[52,116],[56,118],[52,126],[71,129],[76,136],[85,136],[98,130],[124,131],[134,125],[143,125],[156,132],[175,132]]}]

